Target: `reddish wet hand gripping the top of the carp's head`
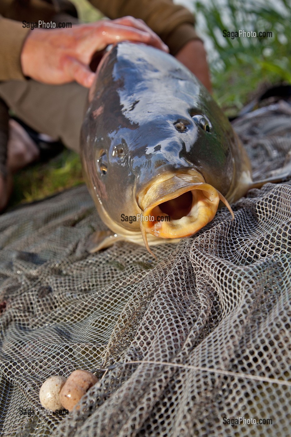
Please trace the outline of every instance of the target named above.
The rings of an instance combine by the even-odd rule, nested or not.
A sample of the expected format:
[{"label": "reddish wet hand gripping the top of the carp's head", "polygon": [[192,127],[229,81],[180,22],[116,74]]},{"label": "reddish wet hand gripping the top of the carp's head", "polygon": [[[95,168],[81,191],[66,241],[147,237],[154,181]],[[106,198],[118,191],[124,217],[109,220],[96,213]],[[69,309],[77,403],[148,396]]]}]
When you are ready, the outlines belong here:
[{"label": "reddish wet hand gripping the top of the carp's head", "polygon": [[89,68],[94,53],[118,41],[136,41],[168,52],[162,40],[133,17],[76,24],[70,29],[34,29],[24,42],[21,67],[24,76],[42,83],[76,82],[90,87],[95,73]]}]

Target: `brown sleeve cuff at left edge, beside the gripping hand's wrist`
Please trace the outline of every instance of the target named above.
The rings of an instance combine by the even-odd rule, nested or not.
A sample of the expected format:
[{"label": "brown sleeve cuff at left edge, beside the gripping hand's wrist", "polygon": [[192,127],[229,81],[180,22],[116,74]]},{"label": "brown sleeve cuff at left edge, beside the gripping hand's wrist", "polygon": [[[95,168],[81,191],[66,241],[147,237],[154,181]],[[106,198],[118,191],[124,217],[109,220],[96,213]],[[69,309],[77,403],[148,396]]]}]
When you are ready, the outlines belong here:
[{"label": "brown sleeve cuff at left edge, beside the gripping hand's wrist", "polygon": [[0,81],[24,79],[20,54],[30,31],[23,28],[21,22],[8,20],[0,15]]}]

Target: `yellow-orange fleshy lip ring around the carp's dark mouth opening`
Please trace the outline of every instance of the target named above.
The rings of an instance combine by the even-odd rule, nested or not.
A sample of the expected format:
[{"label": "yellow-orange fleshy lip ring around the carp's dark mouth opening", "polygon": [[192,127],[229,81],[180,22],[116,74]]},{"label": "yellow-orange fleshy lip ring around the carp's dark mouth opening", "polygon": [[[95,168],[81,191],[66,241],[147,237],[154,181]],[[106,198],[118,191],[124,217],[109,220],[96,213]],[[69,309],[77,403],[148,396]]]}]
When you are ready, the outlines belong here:
[{"label": "yellow-orange fleshy lip ring around the carp's dark mouth opening", "polygon": [[[182,215],[180,218],[170,218],[170,221],[159,221],[158,216],[169,217],[159,208],[159,205],[187,192],[192,194],[192,203],[188,214]],[[203,182],[181,187],[169,194],[167,198],[165,196],[156,198],[156,201],[148,205],[143,211],[143,216],[145,218],[152,217],[153,220],[143,221],[142,226],[146,232],[160,238],[184,238],[194,235],[214,218],[220,200],[219,194],[212,185]]]}]

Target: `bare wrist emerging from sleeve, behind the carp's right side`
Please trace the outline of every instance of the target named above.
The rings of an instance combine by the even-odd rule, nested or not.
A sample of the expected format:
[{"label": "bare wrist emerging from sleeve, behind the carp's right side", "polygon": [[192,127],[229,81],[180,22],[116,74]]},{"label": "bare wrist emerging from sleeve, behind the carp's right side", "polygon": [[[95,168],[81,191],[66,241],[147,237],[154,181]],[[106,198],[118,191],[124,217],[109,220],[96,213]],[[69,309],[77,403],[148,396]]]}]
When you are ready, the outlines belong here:
[{"label": "bare wrist emerging from sleeve, behind the carp's right side", "polygon": [[209,92],[212,91],[206,52],[201,40],[193,39],[187,42],[175,58],[195,74]]}]

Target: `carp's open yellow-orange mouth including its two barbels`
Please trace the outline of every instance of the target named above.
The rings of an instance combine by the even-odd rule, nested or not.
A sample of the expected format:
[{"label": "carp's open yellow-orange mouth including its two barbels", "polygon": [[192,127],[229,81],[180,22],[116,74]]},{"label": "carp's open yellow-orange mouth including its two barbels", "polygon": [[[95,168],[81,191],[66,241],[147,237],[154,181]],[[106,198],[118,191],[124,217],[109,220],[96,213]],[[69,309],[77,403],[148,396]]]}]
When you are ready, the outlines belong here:
[{"label": "carp's open yellow-orange mouth including its two barbels", "polygon": [[207,184],[201,173],[196,170],[191,173],[170,177],[162,183],[156,181],[144,195],[139,196],[138,203],[143,211],[140,228],[148,250],[146,233],[160,238],[194,235],[214,218],[220,200],[234,218],[224,196]]}]

